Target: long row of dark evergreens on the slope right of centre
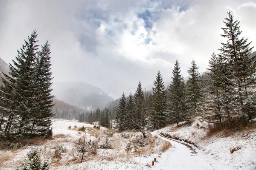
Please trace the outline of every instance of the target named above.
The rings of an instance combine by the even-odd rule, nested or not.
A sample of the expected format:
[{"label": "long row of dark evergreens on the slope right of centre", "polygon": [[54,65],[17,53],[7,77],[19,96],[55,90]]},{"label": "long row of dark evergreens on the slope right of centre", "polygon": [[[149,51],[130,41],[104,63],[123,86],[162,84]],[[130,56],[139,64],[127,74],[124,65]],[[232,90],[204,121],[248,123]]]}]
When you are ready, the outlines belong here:
[{"label": "long row of dark evergreens on the slope right of centre", "polygon": [[[204,116],[209,122],[232,128],[247,126],[256,116],[256,56],[247,38],[240,38],[239,21],[228,11],[222,28],[226,38],[212,54],[206,74],[200,76],[198,66],[192,60],[185,82],[176,60],[172,70],[172,82],[165,88],[160,71],[157,72],[151,93],[137,86],[134,95],[119,98],[115,125],[118,130],[145,127],[158,129],[168,123],[188,120],[191,116]],[[254,55],[253,55],[254,54]]]}]

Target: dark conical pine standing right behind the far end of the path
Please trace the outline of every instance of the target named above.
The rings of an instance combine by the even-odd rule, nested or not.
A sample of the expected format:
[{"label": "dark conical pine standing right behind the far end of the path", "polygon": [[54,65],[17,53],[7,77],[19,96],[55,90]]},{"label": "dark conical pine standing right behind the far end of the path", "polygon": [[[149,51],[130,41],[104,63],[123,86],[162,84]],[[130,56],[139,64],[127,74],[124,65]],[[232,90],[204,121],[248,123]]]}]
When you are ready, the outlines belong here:
[{"label": "dark conical pine standing right behind the far end of the path", "polygon": [[160,71],[157,72],[156,80],[154,81],[153,94],[150,95],[150,116],[149,120],[158,129],[163,127],[166,120],[166,91]]}]

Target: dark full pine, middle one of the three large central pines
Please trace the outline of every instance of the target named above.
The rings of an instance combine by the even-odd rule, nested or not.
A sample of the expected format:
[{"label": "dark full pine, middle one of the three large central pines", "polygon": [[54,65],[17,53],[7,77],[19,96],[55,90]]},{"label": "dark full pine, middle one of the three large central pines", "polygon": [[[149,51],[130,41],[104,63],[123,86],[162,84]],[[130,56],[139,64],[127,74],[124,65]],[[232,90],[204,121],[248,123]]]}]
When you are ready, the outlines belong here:
[{"label": "dark full pine, middle one of the three large central pines", "polygon": [[167,114],[169,122],[176,123],[177,127],[179,122],[186,120],[188,117],[185,95],[186,86],[180,71],[179,62],[176,60],[172,70],[172,83],[169,85]]}]

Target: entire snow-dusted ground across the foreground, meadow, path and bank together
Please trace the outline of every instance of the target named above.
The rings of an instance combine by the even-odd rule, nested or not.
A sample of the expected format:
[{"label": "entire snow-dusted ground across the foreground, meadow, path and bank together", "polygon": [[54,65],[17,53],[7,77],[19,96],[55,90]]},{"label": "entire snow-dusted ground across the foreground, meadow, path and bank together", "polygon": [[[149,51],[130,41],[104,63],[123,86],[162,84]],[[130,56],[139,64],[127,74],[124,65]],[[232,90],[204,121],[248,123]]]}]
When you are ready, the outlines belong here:
[{"label": "entire snow-dusted ground across the foreground, meadow, path and bank together", "polygon": [[[77,122],[76,120],[53,119],[52,139],[35,139],[16,150],[0,150],[0,169],[14,170],[26,153],[32,148],[46,148],[44,157],[51,161],[51,170],[254,170],[256,169],[256,130],[234,133],[224,137],[215,134],[208,137],[206,122],[195,119],[191,125],[175,125],[148,132],[145,140],[140,132],[113,132],[109,141],[112,149],[97,149],[97,154],[92,155],[83,163],[74,160],[72,150],[73,141],[79,139],[84,133],[78,131],[79,127],[87,127],[87,140],[99,139],[105,141],[107,129],[93,128],[93,125]],[[199,124],[199,127],[197,126]],[[68,128],[71,126],[71,128]],[[76,126],[76,128],[75,128]],[[175,140],[160,136],[159,132],[177,136],[180,139],[189,139],[199,146],[184,145]],[[171,143],[172,147],[163,150],[164,144]],[[136,143],[137,142],[137,143]],[[131,150],[127,151],[128,143]],[[184,142],[183,142],[184,143]],[[61,153],[61,158],[54,157],[57,145],[67,148]],[[140,147],[143,145],[143,147]],[[241,149],[230,153],[230,149]],[[154,166],[152,161],[156,158]]]}]

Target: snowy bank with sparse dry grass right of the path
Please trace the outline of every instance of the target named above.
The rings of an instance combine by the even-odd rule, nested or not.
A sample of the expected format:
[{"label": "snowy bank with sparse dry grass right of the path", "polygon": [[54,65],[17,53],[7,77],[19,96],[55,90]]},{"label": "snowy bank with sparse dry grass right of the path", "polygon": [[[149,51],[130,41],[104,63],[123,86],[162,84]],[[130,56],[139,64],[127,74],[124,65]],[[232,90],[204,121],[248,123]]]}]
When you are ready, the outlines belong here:
[{"label": "snowy bank with sparse dry grass right of the path", "polygon": [[[199,128],[197,126],[199,124]],[[256,170],[256,129],[238,131],[231,135],[216,133],[207,136],[207,122],[195,119],[192,125],[175,125],[158,130],[198,145],[198,154],[216,170]],[[227,132],[228,133],[228,132]],[[241,149],[230,153],[236,147]]]}]

